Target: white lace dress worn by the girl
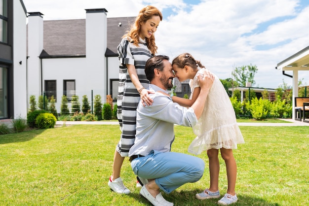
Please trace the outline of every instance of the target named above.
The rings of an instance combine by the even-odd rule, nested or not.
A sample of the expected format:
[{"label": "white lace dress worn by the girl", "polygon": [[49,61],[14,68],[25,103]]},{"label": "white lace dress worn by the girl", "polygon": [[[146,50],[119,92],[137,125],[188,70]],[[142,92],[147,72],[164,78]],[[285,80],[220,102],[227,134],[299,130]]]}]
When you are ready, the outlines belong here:
[{"label": "white lace dress worn by the girl", "polygon": [[[199,87],[197,75],[200,72],[202,73],[203,69],[200,69],[189,82],[190,98],[194,88]],[[230,98],[217,76],[198,124],[193,127],[193,132],[197,137],[190,144],[188,151],[195,155],[208,149],[236,149],[237,144],[244,143]]]}]

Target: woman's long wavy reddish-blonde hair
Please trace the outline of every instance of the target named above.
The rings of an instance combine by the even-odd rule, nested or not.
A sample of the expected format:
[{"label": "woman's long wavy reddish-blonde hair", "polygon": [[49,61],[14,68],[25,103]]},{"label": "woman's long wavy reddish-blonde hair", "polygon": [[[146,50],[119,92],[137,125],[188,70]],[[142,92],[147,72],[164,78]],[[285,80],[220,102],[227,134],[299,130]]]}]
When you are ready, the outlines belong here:
[{"label": "woman's long wavy reddish-blonde hair", "polygon": [[[140,10],[138,16],[135,18],[135,23],[131,25],[131,30],[127,34],[124,34],[122,38],[129,36],[131,37],[130,41],[135,46],[138,46],[141,23],[146,22],[153,16],[159,16],[160,20],[162,21],[162,14],[156,7],[146,6],[145,8]],[[151,53],[156,54],[157,46],[155,45],[154,34],[151,35],[150,38],[146,38],[146,43]]]}]

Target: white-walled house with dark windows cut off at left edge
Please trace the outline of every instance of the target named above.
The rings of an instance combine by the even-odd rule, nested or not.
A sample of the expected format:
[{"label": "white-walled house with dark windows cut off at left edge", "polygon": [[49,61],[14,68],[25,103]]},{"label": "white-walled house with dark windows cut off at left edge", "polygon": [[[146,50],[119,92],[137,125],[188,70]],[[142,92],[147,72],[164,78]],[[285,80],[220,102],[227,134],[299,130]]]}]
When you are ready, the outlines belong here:
[{"label": "white-walled house with dark windows cut off at left edge", "polygon": [[0,119],[27,117],[26,19],[22,0],[0,0]]}]

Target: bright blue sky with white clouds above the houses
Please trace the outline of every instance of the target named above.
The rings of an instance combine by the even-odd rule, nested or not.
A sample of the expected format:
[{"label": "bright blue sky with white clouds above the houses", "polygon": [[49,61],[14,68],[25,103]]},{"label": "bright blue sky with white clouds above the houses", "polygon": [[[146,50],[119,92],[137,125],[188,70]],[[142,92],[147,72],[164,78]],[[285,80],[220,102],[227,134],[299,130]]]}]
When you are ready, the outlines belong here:
[{"label": "bright blue sky with white clouds above the houses", "polygon": [[[172,60],[189,52],[220,79],[256,65],[253,87],[276,89],[292,78],[278,63],[309,46],[309,0],[23,0],[43,20],[85,19],[85,9],[105,8],[107,18],[132,17],[146,5],[163,15],[154,33],[158,54]],[[120,42],[120,40],[119,40]],[[292,75],[291,71],[287,74]],[[309,71],[299,71],[309,85]]]}]

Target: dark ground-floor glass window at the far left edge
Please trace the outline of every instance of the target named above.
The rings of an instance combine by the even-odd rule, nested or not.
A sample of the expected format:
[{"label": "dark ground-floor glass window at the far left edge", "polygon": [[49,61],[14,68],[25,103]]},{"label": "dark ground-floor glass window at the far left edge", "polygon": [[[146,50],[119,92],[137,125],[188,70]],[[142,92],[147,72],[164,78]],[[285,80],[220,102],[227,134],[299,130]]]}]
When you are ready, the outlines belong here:
[{"label": "dark ground-floor glass window at the far left edge", "polygon": [[0,67],[0,118],[7,118],[7,68]]}]

